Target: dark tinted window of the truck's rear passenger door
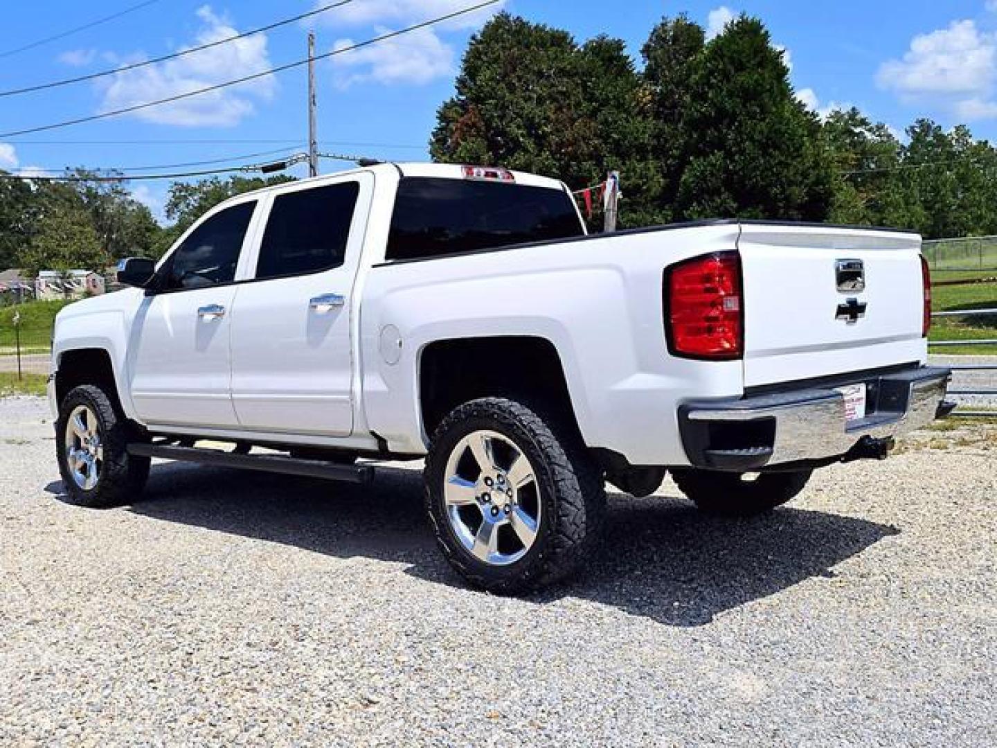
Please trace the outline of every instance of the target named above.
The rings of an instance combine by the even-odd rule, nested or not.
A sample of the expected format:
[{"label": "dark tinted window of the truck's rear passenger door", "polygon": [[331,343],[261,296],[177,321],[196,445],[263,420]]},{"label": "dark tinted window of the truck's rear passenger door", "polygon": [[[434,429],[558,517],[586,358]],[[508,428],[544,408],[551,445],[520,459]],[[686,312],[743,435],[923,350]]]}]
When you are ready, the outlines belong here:
[{"label": "dark tinted window of the truck's rear passenger door", "polygon": [[302,189],[278,195],[263,233],[256,278],[305,275],[343,264],[360,185]]}]

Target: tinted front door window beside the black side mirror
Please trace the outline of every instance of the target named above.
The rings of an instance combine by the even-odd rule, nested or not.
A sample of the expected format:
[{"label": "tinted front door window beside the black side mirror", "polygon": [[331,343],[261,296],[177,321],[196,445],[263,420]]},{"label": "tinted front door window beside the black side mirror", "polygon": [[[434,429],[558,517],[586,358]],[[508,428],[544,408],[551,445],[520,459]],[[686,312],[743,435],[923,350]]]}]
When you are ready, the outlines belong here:
[{"label": "tinted front door window beside the black side mirror", "polygon": [[255,208],[255,201],[241,202],[193,229],[166,260],[160,290],[206,288],[235,280],[242,241]]}]

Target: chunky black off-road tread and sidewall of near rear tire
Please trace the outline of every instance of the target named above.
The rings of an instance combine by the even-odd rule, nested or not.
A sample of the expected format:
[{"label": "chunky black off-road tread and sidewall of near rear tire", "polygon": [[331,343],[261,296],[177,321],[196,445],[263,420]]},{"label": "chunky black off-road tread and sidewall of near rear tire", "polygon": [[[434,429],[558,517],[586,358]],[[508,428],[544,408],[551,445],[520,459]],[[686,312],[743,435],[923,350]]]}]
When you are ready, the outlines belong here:
[{"label": "chunky black off-road tread and sidewall of near rear tire", "polygon": [[[561,423],[553,414],[540,415],[541,408],[505,398],[482,398],[456,408],[437,429],[431,442],[424,473],[426,509],[437,543],[447,560],[471,584],[498,594],[520,594],[561,581],[573,573],[597,549],[605,515],[605,492],[602,474],[589,458],[576,430]],[[547,535],[538,538],[543,546],[520,573],[508,576],[489,573],[469,562],[466,552],[455,545],[447,518],[436,512],[436,476],[446,470],[450,455],[438,448],[444,437],[471,419],[493,419],[507,429],[525,432],[533,446],[543,455],[545,465],[534,465],[539,473],[546,469],[553,485],[553,521]],[[544,507],[546,510],[546,507]],[[547,518],[550,520],[550,518]]]}]

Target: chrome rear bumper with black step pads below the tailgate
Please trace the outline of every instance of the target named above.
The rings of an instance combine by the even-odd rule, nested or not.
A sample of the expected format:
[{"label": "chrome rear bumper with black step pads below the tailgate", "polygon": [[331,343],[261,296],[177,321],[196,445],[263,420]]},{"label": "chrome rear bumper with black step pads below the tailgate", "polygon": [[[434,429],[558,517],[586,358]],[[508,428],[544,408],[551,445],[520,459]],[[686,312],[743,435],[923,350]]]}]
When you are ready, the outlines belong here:
[{"label": "chrome rear bumper with black step pads below the tailgate", "polygon": [[[685,404],[682,438],[695,467],[754,471],[849,457],[883,457],[900,434],[947,415],[951,372],[911,368],[831,385],[755,395],[735,401]],[[864,383],[867,415],[847,423],[844,399],[833,387]]]}]

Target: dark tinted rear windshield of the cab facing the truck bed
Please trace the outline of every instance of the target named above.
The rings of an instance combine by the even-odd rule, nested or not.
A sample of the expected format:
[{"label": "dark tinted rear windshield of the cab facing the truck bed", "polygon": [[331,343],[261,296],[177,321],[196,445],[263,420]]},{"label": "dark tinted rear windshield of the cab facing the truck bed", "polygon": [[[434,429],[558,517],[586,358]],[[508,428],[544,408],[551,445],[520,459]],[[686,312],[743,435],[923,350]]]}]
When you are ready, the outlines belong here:
[{"label": "dark tinted rear windshield of the cab facing the truck bed", "polygon": [[437,257],[584,233],[560,189],[409,177],[398,187],[388,259]]}]

